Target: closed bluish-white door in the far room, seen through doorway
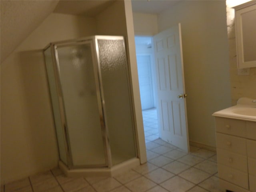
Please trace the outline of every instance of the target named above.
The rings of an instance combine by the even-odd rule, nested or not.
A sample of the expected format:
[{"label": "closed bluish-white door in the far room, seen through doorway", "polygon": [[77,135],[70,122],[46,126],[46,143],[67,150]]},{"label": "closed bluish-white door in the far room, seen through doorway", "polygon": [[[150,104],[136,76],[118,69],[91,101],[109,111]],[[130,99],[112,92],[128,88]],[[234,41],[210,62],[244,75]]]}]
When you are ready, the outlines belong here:
[{"label": "closed bluish-white door in the far room, seen through doorway", "polygon": [[150,54],[137,54],[142,110],[154,107]]}]

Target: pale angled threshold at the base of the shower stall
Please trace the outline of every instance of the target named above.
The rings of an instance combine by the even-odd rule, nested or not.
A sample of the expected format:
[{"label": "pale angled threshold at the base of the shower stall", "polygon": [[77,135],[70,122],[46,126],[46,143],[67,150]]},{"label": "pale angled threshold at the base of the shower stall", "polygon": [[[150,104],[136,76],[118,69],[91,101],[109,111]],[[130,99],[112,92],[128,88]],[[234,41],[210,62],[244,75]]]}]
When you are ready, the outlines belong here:
[{"label": "pale angled threshold at the base of the shower stall", "polygon": [[68,177],[85,177],[85,176],[115,176],[124,171],[130,170],[140,165],[139,158],[132,158],[120,164],[114,165],[112,168],[79,168],[68,169],[68,167],[61,161],[59,161],[59,168]]}]

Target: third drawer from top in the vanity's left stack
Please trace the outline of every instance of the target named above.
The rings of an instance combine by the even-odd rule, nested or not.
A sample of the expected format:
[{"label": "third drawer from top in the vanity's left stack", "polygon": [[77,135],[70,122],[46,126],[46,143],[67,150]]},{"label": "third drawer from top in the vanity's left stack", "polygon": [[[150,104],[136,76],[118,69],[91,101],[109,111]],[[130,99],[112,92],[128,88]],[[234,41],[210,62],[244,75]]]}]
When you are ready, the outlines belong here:
[{"label": "third drawer from top in the vanity's left stack", "polygon": [[242,172],[248,172],[247,157],[243,155],[217,148],[217,162]]}]

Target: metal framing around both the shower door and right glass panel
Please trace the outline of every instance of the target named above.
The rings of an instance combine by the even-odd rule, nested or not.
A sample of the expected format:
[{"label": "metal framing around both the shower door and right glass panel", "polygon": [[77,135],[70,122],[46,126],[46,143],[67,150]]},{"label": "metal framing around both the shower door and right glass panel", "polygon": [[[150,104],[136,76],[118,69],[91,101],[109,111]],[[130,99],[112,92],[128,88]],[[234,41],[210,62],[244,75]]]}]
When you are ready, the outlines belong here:
[{"label": "metal framing around both the shower door and right glass panel", "polygon": [[[130,110],[131,110],[131,118],[132,118],[132,132],[134,135],[134,148],[135,148],[135,156],[138,157],[138,146],[136,142],[136,133],[135,133],[135,124],[134,124],[134,102],[132,100],[132,87],[131,87],[131,74],[130,74],[130,68],[128,66],[128,60],[127,60],[127,53],[126,53],[126,47],[125,47],[125,39],[123,36],[90,36],[87,38],[80,38],[75,40],[67,40],[67,41],[61,41],[61,42],[53,42],[50,45],[46,46],[44,50],[51,47],[51,54],[53,59],[53,68],[54,68],[54,78],[56,82],[56,90],[58,93],[58,103],[60,106],[60,114],[61,114],[61,121],[62,121],[62,131],[64,132],[64,142],[65,142],[65,149],[66,149],[66,156],[67,156],[67,162],[68,162],[68,168],[96,168],[96,167],[108,167],[111,168],[113,166],[112,164],[112,155],[111,155],[111,148],[110,148],[110,142],[109,142],[109,134],[108,134],[108,127],[107,127],[107,120],[105,118],[106,114],[106,107],[104,103],[104,91],[102,86],[102,76],[101,76],[101,70],[100,70],[100,58],[99,58],[99,48],[97,40],[123,40],[124,44],[124,54],[126,59],[126,74],[127,74],[127,80],[128,80],[128,92],[129,92],[129,98],[130,98]],[[100,126],[101,126],[101,132],[102,132],[102,140],[103,140],[103,146],[104,146],[104,157],[105,157],[105,164],[97,164],[97,165],[85,165],[85,166],[74,166],[72,161],[72,154],[70,151],[70,141],[68,138],[68,128],[67,128],[67,120],[66,120],[66,113],[65,113],[65,107],[64,107],[64,99],[63,99],[63,92],[62,87],[60,83],[60,64],[58,61],[58,47],[65,47],[65,46],[71,46],[71,45],[79,45],[79,44],[86,44],[90,43],[91,46],[91,52],[92,52],[92,64],[94,69],[94,79],[95,79],[95,85],[96,85],[96,95],[97,95],[97,101],[98,101],[98,110],[100,115]]]}]

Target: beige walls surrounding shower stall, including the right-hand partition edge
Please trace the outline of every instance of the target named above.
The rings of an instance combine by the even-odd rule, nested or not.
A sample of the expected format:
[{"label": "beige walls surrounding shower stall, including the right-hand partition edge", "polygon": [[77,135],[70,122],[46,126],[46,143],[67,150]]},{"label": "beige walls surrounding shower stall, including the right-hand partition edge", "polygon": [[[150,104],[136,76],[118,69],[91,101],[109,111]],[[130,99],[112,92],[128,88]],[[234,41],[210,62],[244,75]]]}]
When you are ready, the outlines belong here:
[{"label": "beige walls surrounding shower stall, including the right-hand partition edge", "polygon": [[95,19],[50,14],[1,63],[1,184],[57,166],[58,147],[42,49],[50,42],[95,34],[126,37],[138,152],[141,163],[146,162],[132,19],[130,1],[116,1]]}]

